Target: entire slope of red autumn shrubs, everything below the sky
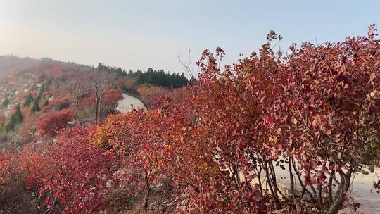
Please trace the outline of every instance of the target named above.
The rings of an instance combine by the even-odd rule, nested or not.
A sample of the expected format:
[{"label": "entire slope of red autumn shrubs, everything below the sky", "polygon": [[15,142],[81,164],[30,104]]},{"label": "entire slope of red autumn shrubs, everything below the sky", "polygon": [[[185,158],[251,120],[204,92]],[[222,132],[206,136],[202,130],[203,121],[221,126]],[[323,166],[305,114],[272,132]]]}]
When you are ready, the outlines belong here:
[{"label": "entire slope of red autumn shrubs, everything below the sky", "polygon": [[[203,51],[190,82],[46,59],[8,74],[0,213],[376,213],[355,198],[380,200],[376,26],[285,52],[266,38],[223,68]],[[121,113],[122,92],[146,108]]]}]

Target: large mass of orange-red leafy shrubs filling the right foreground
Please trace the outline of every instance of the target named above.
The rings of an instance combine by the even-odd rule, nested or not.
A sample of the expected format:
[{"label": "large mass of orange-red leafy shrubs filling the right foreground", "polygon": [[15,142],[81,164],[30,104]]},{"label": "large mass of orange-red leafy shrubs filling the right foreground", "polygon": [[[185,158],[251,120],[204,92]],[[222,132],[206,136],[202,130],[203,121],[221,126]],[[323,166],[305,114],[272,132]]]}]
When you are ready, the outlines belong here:
[{"label": "large mass of orange-red leafy shrubs filling the right foreground", "polygon": [[[293,206],[296,196],[280,196],[278,189],[276,172],[285,167],[291,178],[296,172],[312,201],[317,199],[306,186],[336,213],[352,173],[379,165],[380,44],[372,35],[291,46],[283,56],[270,49],[277,38],[271,31],[260,53],[224,70],[218,63],[224,51],[206,50],[186,103],[165,99],[160,109],[111,117],[93,141],[122,156],[145,183],[170,177],[186,213]],[[147,87],[138,90],[151,100]],[[136,181],[134,176],[125,178]],[[269,191],[262,180],[253,183],[264,177]],[[337,179],[341,184],[331,188]]]}]

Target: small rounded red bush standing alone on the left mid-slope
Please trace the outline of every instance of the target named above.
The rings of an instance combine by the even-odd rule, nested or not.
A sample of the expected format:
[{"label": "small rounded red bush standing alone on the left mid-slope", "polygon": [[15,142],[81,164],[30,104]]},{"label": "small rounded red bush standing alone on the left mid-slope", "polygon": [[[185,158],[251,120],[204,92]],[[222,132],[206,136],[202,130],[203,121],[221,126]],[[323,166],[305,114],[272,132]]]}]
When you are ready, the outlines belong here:
[{"label": "small rounded red bush standing alone on the left mid-slope", "polygon": [[58,132],[68,125],[73,118],[70,109],[63,109],[58,112],[46,113],[37,122],[37,132],[40,135],[54,137]]}]

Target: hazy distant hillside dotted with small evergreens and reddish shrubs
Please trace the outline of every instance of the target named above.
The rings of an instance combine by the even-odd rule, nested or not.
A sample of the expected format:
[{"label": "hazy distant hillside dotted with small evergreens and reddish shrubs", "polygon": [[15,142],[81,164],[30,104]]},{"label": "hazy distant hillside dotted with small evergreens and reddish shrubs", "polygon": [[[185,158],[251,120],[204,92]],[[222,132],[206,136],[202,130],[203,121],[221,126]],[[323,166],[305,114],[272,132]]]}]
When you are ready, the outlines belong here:
[{"label": "hazy distant hillside dotted with small evergreens and reddish shrubs", "polygon": [[[100,122],[108,114],[118,112],[116,107],[122,92],[141,98],[146,106],[164,94],[173,94],[177,101],[181,96],[175,96],[177,89],[165,87],[167,83],[147,81],[146,77],[151,80],[151,75],[163,74],[161,80],[165,81],[177,77],[151,68],[147,73],[140,70],[127,73],[108,66],[97,69],[49,58],[34,60],[15,56],[2,57],[0,66],[4,74],[0,78],[0,141],[6,144],[38,141],[37,121],[65,108],[74,112],[73,119],[77,122]],[[101,101],[96,92],[101,93]],[[15,121],[18,108],[22,121]]]}]

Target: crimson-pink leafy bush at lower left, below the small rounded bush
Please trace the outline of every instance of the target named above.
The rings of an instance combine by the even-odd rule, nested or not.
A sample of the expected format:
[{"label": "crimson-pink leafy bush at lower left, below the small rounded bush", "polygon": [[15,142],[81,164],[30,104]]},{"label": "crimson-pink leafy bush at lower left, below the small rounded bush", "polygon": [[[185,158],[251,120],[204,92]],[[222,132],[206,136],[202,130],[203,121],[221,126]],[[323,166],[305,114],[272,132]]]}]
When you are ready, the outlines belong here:
[{"label": "crimson-pink leafy bush at lower left, below the small rounded bush", "polygon": [[48,209],[58,201],[64,213],[93,213],[101,208],[112,158],[89,144],[94,127],[74,127],[63,132],[46,153],[27,152],[23,170],[27,184],[37,187]]}]

